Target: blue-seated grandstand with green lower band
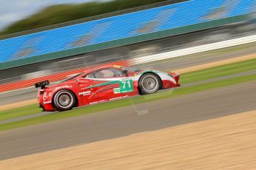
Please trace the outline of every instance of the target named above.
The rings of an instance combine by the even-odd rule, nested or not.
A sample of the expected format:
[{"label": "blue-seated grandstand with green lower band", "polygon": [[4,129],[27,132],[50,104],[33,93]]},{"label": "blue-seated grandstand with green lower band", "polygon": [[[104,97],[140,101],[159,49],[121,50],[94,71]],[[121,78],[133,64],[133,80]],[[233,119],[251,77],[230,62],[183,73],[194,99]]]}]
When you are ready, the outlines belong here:
[{"label": "blue-seated grandstand with green lower band", "polygon": [[254,0],[184,1],[0,41],[0,69],[246,21]]}]

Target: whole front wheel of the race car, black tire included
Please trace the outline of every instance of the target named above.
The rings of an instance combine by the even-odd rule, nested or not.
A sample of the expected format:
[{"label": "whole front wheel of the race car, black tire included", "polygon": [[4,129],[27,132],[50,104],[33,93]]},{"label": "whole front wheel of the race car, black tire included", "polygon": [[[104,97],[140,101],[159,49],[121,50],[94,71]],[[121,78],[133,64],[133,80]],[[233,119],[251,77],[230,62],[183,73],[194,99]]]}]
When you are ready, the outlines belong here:
[{"label": "whole front wheel of the race car, black tire included", "polygon": [[147,95],[157,92],[160,89],[160,78],[153,73],[146,73],[142,75],[139,81],[139,88],[141,95]]}]

